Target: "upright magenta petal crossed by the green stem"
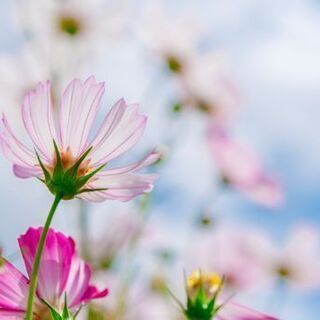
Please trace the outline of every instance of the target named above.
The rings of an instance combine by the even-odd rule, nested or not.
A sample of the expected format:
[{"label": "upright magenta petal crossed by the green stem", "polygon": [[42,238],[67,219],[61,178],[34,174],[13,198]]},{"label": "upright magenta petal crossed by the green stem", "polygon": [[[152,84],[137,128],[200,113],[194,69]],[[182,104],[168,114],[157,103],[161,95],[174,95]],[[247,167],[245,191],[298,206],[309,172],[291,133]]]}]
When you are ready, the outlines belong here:
[{"label": "upright magenta petal crossed by the green stem", "polygon": [[[41,232],[42,228],[30,228],[18,239],[29,277]],[[74,241],[70,237],[49,230],[41,258],[37,289],[38,295],[47,302],[53,304],[61,297],[68,280],[74,251]]]}]

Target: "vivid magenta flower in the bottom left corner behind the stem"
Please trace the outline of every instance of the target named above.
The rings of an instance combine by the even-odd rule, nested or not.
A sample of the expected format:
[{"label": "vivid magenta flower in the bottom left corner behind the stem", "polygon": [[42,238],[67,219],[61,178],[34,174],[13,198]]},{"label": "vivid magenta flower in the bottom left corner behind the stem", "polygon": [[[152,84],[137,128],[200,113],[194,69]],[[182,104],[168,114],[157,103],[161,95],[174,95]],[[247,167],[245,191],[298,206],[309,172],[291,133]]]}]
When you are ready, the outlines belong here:
[{"label": "vivid magenta flower in the bottom left corner behind the stem", "polygon": [[[24,264],[31,277],[33,260],[42,228],[30,228],[18,239]],[[35,319],[50,319],[46,301],[62,311],[65,296],[68,307],[76,311],[92,299],[103,298],[108,289],[99,291],[90,285],[91,269],[82,261],[72,238],[49,230],[40,264]],[[4,260],[0,269],[0,318],[24,319],[28,298],[29,280],[11,263]]]}]

